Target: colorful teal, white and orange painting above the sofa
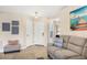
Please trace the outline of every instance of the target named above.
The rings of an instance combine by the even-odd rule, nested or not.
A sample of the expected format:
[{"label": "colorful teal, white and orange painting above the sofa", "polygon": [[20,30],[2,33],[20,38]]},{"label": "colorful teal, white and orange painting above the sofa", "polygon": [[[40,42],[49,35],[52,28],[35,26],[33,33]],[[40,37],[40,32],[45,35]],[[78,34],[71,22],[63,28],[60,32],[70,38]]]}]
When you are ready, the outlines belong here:
[{"label": "colorful teal, white and orange painting above the sofa", "polygon": [[70,12],[70,30],[87,31],[87,6]]}]

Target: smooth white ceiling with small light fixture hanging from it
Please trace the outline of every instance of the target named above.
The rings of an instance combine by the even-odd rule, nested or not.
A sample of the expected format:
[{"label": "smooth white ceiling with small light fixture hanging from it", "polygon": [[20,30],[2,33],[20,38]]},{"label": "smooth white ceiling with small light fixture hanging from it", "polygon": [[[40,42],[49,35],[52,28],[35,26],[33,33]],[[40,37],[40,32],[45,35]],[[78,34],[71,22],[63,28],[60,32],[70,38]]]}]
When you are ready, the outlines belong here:
[{"label": "smooth white ceiling with small light fixture hanging from it", "polygon": [[18,12],[29,15],[55,18],[59,13],[63,6],[0,6],[0,12]]}]

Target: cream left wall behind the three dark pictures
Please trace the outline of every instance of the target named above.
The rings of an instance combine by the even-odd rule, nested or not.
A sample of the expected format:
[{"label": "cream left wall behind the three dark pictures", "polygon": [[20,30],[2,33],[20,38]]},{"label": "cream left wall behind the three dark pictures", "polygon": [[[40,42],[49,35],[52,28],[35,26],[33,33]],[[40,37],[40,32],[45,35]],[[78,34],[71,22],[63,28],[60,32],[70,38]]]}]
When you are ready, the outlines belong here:
[{"label": "cream left wall behind the three dark pictures", "polygon": [[[9,40],[19,40],[19,43],[21,44],[21,47],[24,48],[25,45],[25,22],[29,18],[22,14],[15,14],[15,13],[0,13],[0,52],[3,52],[3,46],[8,44]],[[2,22],[10,22],[12,20],[18,20],[20,23],[19,26],[19,34],[13,35],[10,32],[2,32]],[[2,46],[1,46],[2,45]]]}]

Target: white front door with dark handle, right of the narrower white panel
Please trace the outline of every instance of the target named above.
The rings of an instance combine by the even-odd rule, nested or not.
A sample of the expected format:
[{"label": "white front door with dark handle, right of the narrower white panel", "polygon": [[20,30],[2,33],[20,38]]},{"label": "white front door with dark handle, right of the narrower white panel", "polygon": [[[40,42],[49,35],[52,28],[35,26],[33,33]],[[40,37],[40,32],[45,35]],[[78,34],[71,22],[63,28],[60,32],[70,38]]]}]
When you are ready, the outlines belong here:
[{"label": "white front door with dark handle, right of the narrower white panel", "polygon": [[45,21],[34,21],[34,44],[45,45]]}]

